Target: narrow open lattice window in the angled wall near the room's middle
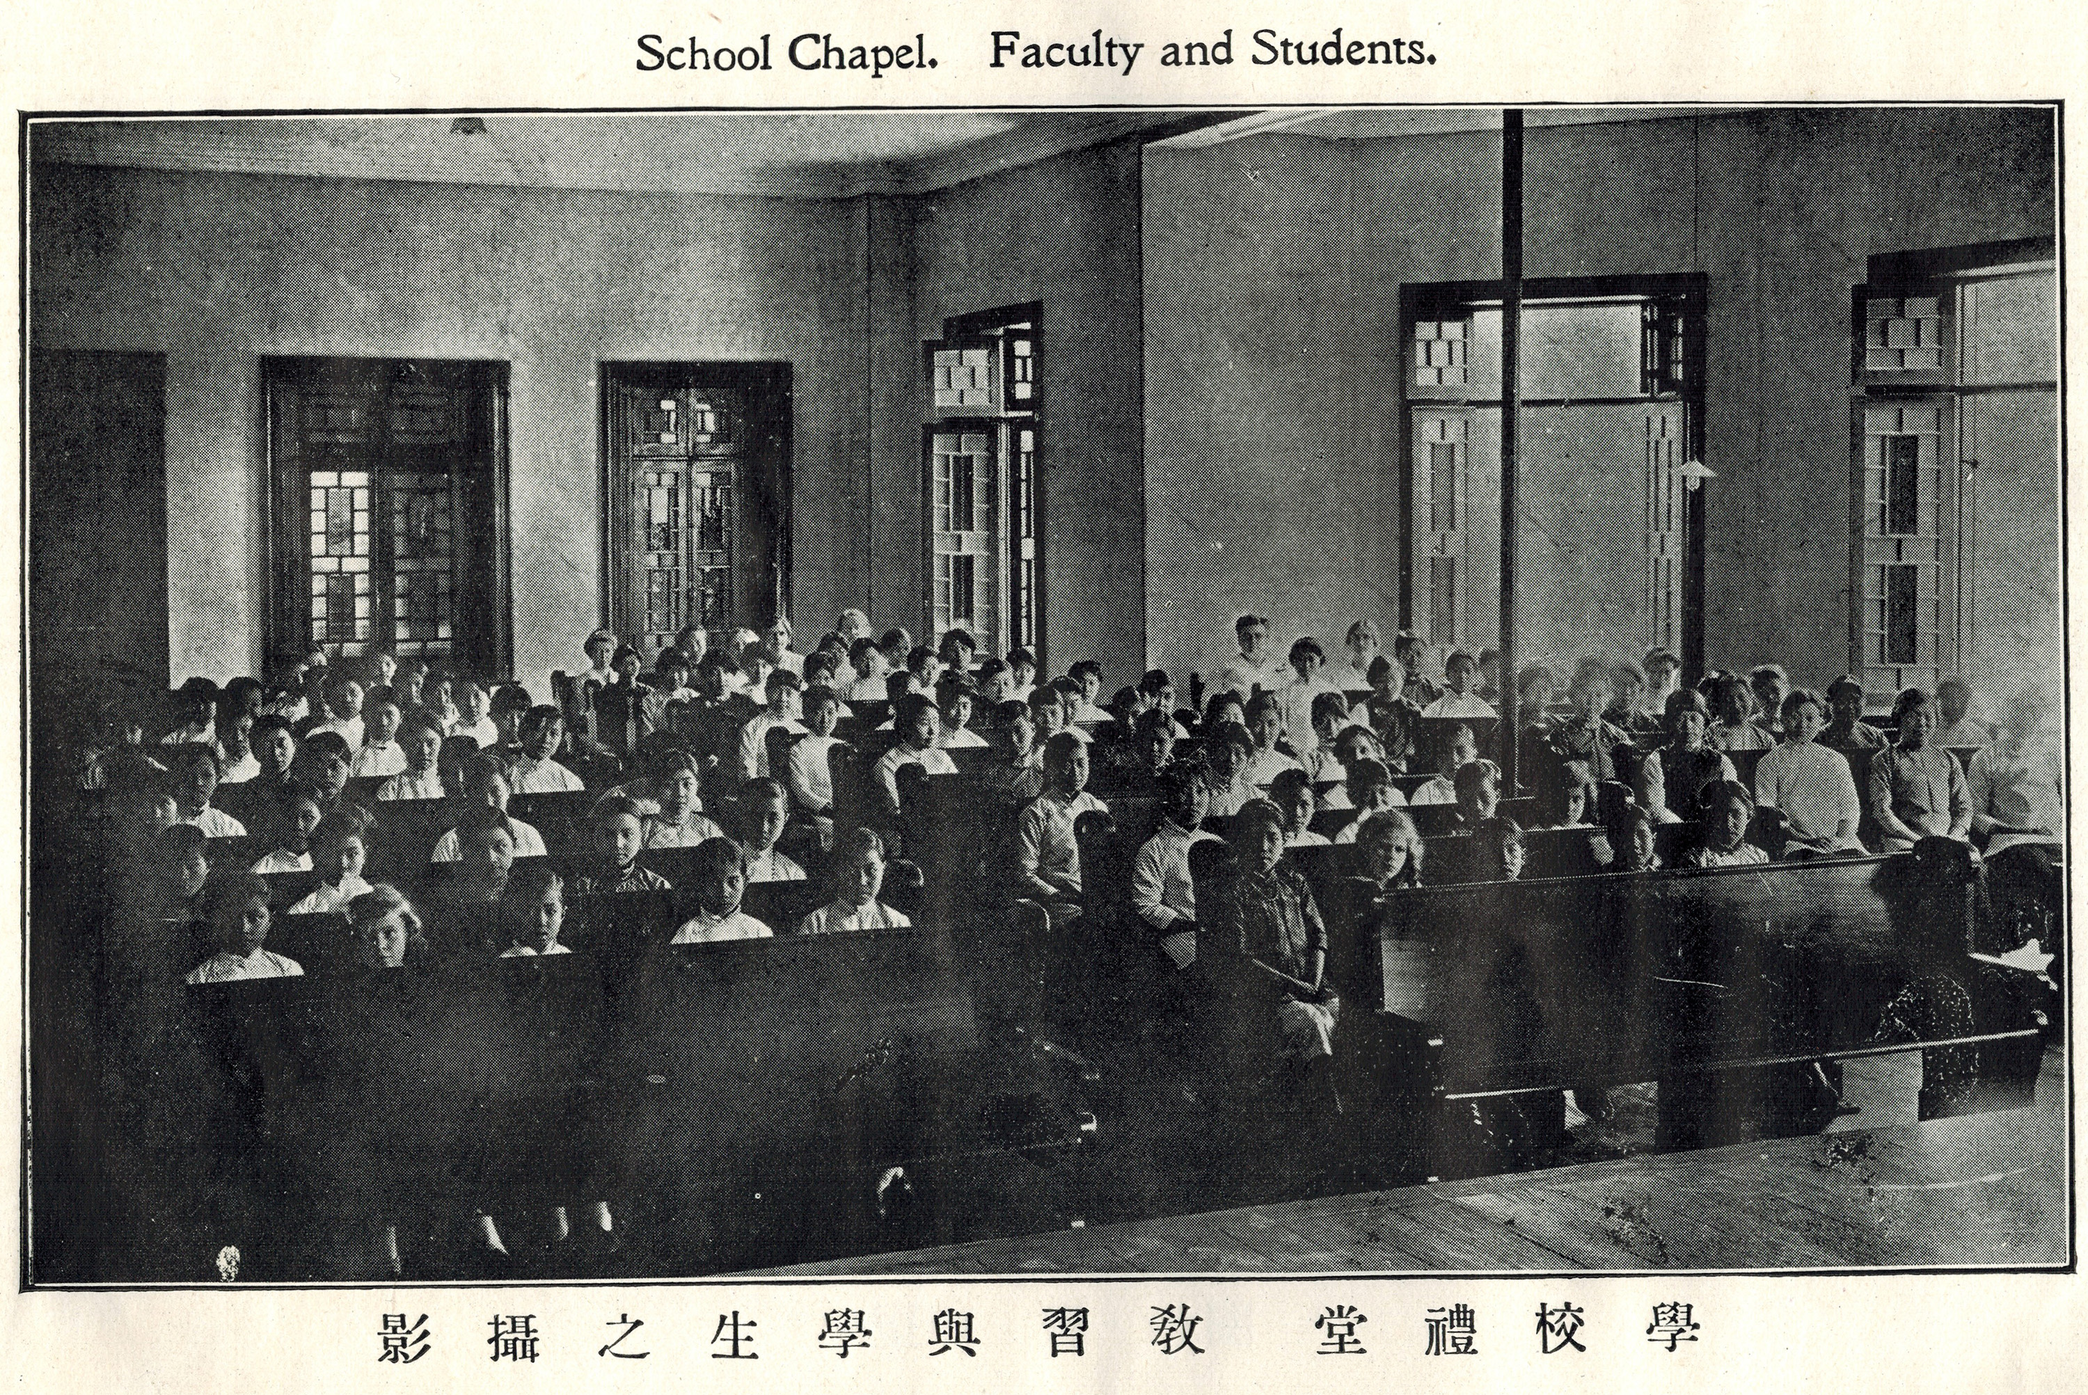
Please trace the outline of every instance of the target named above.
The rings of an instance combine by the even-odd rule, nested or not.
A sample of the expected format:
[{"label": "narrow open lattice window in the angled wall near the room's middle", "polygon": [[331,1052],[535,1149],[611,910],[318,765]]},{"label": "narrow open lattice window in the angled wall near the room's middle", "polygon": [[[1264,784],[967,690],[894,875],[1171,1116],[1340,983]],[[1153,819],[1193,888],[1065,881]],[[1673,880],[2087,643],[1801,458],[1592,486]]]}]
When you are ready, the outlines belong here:
[{"label": "narrow open lattice window in the angled wall near the room's middle", "polygon": [[1038,647],[1044,434],[1042,307],[944,322],[923,345],[927,616],[933,635],[971,631],[990,652]]}]

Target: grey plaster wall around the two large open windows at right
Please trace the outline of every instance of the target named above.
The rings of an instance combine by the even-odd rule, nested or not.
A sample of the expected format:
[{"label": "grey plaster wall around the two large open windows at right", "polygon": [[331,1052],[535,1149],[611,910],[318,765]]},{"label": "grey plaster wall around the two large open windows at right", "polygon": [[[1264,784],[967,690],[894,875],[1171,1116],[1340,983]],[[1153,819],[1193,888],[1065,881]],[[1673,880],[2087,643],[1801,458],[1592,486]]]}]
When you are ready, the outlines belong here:
[{"label": "grey plaster wall around the two large open windows at right", "polygon": [[[1526,276],[1708,276],[1710,662],[1848,666],[1850,286],[1873,253],[2050,236],[2053,150],[2027,109],[1528,132]],[[1242,610],[1284,643],[1389,631],[1399,286],[1499,276],[1499,136],[1153,148],[1144,246],[1153,662],[1209,666]]]}]

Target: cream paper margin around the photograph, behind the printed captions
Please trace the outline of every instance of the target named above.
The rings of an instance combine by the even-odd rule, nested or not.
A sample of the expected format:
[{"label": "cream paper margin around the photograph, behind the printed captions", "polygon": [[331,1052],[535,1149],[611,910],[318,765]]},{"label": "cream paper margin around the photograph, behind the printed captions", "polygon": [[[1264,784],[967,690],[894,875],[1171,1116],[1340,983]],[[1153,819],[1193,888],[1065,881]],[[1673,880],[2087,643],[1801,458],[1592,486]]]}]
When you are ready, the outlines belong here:
[{"label": "cream paper margin around the photograph, behind the printed captions", "polygon": [[[1148,44],[1236,40],[1263,25],[1284,33],[1420,38],[1439,56],[1397,69],[1159,69],[1140,63],[1134,79],[1115,73],[1023,73],[988,67],[996,27],[1079,38],[1102,27]],[[779,36],[833,29],[862,42],[900,42],[925,31],[940,54],[933,73],[877,84],[858,73],[775,71],[756,75],[639,73],[635,38],[649,31],[695,36]],[[885,38],[894,36],[894,38]],[[2084,25],[2071,4],[1819,6],[1739,0],[1729,4],[1378,4],[1255,6],[1213,4],[793,4],[595,6],[545,4],[8,4],[0,31],[6,96],[17,111],[188,113],[267,109],[445,109],[518,107],[912,107],[912,104],[1340,104],[1340,102],[1858,102],[1858,100],[2048,100],[2084,94]],[[1148,48],[1148,56],[1157,48]],[[779,65],[781,69],[781,65]],[[2071,113],[2069,113],[2071,115]],[[1892,152],[1879,150],[1890,163]],[[2067,186],[2080,161],[2061,142]],[[19,159],[10,169],[19,209]],[[2065,232],[2080,234],[2078,198],[2063,203]],[[10,219],[4,267],[8,303],[19,305],[21,223]],[[2065,284],[2065,282],[2061,282]],[[2071,309],[2071,297],[2069,305]],[[19,313],[19,311],[17,311]],[[2080,345],[2078,320],[2069,347]],[[8,449],[19,462],[19,336],[6,347]],[[2071,418],[2073,413],[2069,413]],[[8,493],[10,512],[19,507]],[[10,539],[19,528],[10,530]],[[2069,539],[2080,541],[2069,526]],[[15,543],[10,543],[15,545]],[[21,606],[19,566],[6,574],[6,604]],[[2069,591],[2080,597],[2078,587]],[[8,664],[19,658],[10,647]],[[10,670],[10,679],[15,672]],[[19,683],[0,689],[6,720],[19,718]],[[2080,708],[2075,706],[2075,716]],[[2078,729],[2075,729],[2078,731]],[[21,750],[6,762],[19,777]],[[19,785],[17,785],[19,787]],[[21,810],[0,814],[15,846]],[[4,896],[21,902],[19,869],[4,871]],[[19,1009],[19,979],[10,977]],[[19,1044],[13,1046],[19,1050]],[[6,1073],[19,1107],[17,1071]],[[19,1165],[8,1151],[6,1167]],[[17,1182],[17,1178],[8,1178]],[[10,1186],[8,1195],[19,1195]],[[19,1253],[19,1215],[6,1236]],[[818,1314],[848,1301],[889,1332],[873,1351],[835,1362],[814,1349]],[[1589,1314],[1587,1355],[1539,1357],[1528,1339],[1539,1301],[1570,1299]],[[1203,1355],[1161,1357],[1148,1347],[1153,1303],[1188,1301],[1207,1320]],[[1482,1355],[1416,1362],[1422,1309],[1472,1303]],[[1639,1332],[1656,1301],[1691,1301],[1702,1341],[1668,1355]],[[954,1355],[919,1359],[929,1314],[956,1305],[977,1314],[990,1341],[963,1366]],[[1038,1309],[1094,1309],[1090,1355],[1044,1359]],[[1311,1318],[1328,1303],[1353,1303],[1376,1320],[1363,1328],[1374,1351],[1338,1372],[1311,1353]],[[428,1314],[430,1357],[380,1366],[384,1311]],[[762,1324],[762,1362],[712,1366],[708,1339],[722,1311]],[[2088,1337],[2088,1303],[2073,1276],[1881,1276],[1881,1278],[1560,1278],[1560,1280],[1052,1280],[1052,1282],[879,1282],[752,1284],[677,1282],[603,1288],[420,1288],[390,1291],[190,1291],[35,1293],[4,1301],[0,1368],[17,1389],[658,1389],[714,1385],[770,1389],[781,1378],[806,1389],[1318,1389],[1397,1382],[1416,1389],[1512,1389],[1545,1380],[1566,1389],[1881,1389],[2013,1391],[2067,1389],[2078,1380],[2078,1343]],[[493,1314],[535,1314],[545,1334],[535,1366],[493,1366]],[[645,1320],[651,1357],[595,1355],[618,1314]]]}]

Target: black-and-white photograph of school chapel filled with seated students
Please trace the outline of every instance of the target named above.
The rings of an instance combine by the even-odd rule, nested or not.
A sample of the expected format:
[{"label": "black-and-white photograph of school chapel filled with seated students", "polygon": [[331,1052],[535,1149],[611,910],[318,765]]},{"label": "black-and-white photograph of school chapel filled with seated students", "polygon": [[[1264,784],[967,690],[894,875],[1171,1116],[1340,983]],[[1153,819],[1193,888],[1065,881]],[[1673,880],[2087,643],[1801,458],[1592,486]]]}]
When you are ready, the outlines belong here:
[{"label": "black-and-white photograph of school chapel filled with seated students", "polygon": [[23,117],[23,1286],[2069,1270],[2059,117]]}]

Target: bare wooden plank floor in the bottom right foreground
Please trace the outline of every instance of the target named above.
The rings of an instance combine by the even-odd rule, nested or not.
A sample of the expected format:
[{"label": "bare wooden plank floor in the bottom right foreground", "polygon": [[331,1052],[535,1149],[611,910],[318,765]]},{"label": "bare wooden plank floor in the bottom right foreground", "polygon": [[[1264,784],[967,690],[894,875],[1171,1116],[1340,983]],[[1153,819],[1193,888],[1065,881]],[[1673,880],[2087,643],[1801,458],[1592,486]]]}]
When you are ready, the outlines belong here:
[{"label": "bare wooden plank floor in the bottom right foreground", "polygon": [[2057,1266],[2067,1082],[2030,1109],[1837,1128],[1355,1197],[867,1255],[773,1274],[1295,1274]]}]

